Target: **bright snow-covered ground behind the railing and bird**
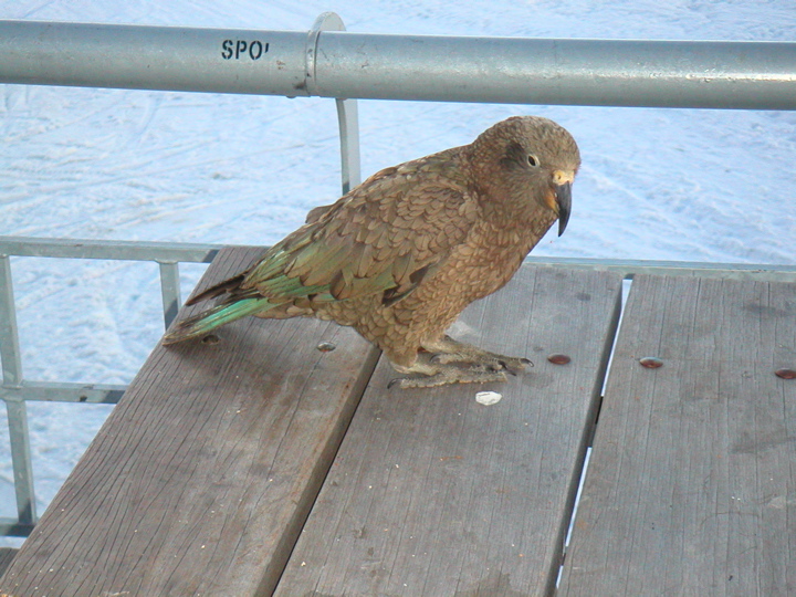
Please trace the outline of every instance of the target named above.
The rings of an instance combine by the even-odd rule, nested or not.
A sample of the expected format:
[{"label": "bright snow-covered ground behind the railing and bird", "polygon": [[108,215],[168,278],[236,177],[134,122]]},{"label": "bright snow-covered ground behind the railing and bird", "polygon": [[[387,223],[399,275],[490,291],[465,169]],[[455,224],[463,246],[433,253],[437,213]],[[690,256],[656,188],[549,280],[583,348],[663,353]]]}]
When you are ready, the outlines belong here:
[{"label": "bright snow-covered ground behind the railing and bird", "polygon": [[[0,0],[0,19],[375,33],[796,39],[765,0]],[[541,114],[580,145],[573,217],[538,254],[794,263],[796,114],[360,102],[363,175]],[[331,100],[0,85],[0,234],[271,244],[337,197]],[[201,266],[182,268],[184,294]],[[29,379],[128,383],[163,333],[153,264],[13,260]],[[42,512],[109,407],[29,406]],[[0,516],[13,515],[0,408]],[[0,540],[13,543],[11,540]],[[17,542],[18,543],[18,542]]]}]

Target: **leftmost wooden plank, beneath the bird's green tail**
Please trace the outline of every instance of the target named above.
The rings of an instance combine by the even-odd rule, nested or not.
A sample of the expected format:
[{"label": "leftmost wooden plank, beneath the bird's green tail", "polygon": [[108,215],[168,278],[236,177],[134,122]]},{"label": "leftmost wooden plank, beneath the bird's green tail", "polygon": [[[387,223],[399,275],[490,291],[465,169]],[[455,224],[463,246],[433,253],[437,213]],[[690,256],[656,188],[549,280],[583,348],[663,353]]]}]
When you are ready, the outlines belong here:
[{"label": "leftmost wooden plank, beneath the bird's green tail", "polygon": [[[200,286],[260,252],[222,251]],[[0,593],[271,589],[377,352],[352,329],[313,320],[247,318],[217,336],[155,348]],[[336,350],[318,352],[320,341]]]}]

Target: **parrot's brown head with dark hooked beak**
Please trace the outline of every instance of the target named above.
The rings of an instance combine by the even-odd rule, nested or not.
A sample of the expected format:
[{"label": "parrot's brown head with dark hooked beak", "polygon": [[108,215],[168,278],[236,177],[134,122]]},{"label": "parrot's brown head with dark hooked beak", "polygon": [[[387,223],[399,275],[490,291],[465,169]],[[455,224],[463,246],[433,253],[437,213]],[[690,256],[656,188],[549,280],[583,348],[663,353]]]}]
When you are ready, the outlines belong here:
[{"label": "parrot's brown head with dark hooked beak", "polygon": [[534,201],[534,208],[555,213],[558,235],[564,233],[580,167],[577,144],[564,127],[538,116],[513,116],[482,133],[469,155],[493,198],[510,206]]}]

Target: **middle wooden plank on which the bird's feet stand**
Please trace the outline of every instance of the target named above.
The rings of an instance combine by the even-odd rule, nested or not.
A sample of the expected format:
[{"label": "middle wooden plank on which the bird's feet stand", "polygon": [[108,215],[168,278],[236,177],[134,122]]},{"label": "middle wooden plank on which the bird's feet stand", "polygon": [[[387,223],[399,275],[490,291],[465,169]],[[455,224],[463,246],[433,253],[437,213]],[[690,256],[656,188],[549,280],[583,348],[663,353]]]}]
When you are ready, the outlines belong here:
[{"label": "middle wooden plank on which the bird's feet stand", "polygon": [[[535,363],[507,384],[387,390],[379,364],[276,595],[549,593],[620,293],[614,274],[524,266],[471,305],[454,337]],[[502,400],[476,404],[486,389]]]}]

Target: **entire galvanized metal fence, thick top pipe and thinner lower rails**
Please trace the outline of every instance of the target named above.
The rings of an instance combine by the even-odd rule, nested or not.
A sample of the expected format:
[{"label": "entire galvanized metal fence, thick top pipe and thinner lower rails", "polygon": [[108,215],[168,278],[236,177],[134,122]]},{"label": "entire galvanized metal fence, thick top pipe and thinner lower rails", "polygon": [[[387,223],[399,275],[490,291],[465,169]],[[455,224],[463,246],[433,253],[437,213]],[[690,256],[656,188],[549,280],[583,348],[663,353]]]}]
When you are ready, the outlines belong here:
[{"label": "entire galvanized metal fence, thick top pipe and thinner lower rails", "polygon": [[[335,97],[342,190],[359,182],[355,100],[796,109],[796,43],[444,38],[348,33],[334,13],[308,32],[0,21],[0,83]],[[439,60],[446,56],[446,60]],[[153,261],[166,326],[179,263],[219,247],[0,237],[0,359],[18,519],[36,522],[25,402],[116,404],[124,386],[22,376],[11,256]],[[568,268],[796,281],[796,265],[530,258]]]}]

